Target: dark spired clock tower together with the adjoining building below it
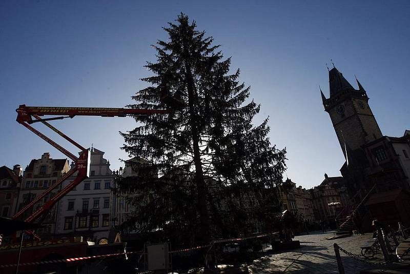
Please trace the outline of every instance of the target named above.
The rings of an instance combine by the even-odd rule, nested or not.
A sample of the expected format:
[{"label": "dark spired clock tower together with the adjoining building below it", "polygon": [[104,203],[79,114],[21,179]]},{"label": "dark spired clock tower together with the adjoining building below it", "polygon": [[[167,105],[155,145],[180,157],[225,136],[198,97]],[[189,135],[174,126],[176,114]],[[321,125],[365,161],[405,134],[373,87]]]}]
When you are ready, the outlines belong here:
[{"label": "dark spired clock tower together with the adjoining building below it", "polygon": [[410,188],[406,158],[410,138],[406,133],[401,138],[383,136],[367,92],[356,82],[357,89],[333,68],[329,71],[330,97],[320,93],[346,160],[340,172],[351,197],[359,203],[375,184],[376,192]]}]

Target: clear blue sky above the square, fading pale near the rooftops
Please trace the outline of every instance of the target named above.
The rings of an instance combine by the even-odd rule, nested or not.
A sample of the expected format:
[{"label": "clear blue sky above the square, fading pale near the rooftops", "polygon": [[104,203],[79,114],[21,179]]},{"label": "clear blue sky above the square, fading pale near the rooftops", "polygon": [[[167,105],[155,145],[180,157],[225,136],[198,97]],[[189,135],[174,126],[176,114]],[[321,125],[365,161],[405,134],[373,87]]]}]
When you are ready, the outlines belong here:
[{"label": "clear blue sky above the square, fading pale near the rooftops", "polygon": [[[344,162],[318,86],[326,96],[325,63],[371,98],[384,135],[410,128],[408,1],[1,1],[0,166],[25,167],[50,152],[66,158],[15,122],[20,104],[123,107],[146,86],[150,47],[182,11],[232,56],[232,69],[270,116],[270,139],[288,150],[286,175],[309,188]],[[131,118],[76,117],[54,122],[86,147],[106,152],[112,169],[127,159],[118,131]],[[43,132],[50,132],[36,125]],[[55,140],[59,140],[55,138]],[[64,142],[62,142],[64,144]],[[71,146],[71,151],[77,149]]]}]

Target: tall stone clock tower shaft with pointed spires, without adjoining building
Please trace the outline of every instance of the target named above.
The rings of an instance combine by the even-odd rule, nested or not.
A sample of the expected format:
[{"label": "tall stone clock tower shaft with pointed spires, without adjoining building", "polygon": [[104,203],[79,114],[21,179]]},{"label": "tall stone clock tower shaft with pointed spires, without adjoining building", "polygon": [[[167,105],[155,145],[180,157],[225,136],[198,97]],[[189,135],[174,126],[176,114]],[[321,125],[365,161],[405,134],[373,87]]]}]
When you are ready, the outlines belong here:
[{"label": "tall stone clock tower shaft with pointed spires, without adjoining building", "polygon": [[362,150],[361,146],[382,137],[375,116],[368,105],[366,91],[357,79],[356,82],[358,89],[353,88],[334,67],[329,71],[329,99],[326,99],[320,90],[324,110],[329,113],[345,157],[346,150],[357,154],[358,150]]}]

